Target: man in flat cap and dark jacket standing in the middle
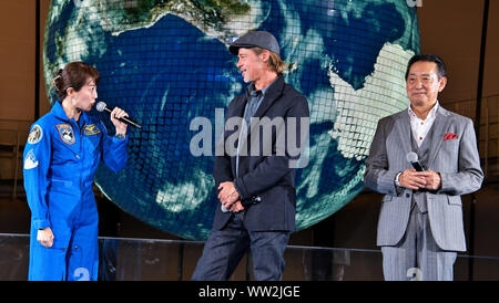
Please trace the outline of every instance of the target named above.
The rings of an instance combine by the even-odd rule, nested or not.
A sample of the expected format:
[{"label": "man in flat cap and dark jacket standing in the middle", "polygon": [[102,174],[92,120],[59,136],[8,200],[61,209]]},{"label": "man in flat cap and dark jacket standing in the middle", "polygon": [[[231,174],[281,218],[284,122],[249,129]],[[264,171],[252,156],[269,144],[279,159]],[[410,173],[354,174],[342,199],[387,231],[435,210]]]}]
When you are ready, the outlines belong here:
[{"label": "man in flat cap and dark jacket standing in the middle", "polygon": [[[249,32],[228,50],[251,84],[227,108],[227,121],[240,123],[236,129],[226,127],[218,144],[237,140],[233,150],[225,146],[224,155],[215,157],[221,206],[192,280],[227,280],[248,249],[255,280],[281,280],[295,229],[295,168],[308,142],[308,102],[284,82],[285,63],[271,33]],[[296,144],[288,148],[291,142]]]}]

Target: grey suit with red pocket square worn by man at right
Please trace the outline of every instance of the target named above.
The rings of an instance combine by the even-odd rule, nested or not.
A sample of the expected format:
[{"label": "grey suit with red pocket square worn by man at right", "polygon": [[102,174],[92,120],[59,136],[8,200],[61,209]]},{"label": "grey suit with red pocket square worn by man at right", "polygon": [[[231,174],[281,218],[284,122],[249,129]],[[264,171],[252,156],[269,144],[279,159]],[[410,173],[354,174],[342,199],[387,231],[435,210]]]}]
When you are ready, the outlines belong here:
[{"label": "grey suit with red pocket square worn by man at right", "polygon": [[[448,133],[456,134],[457,138],[448,139]],[[397,255],[400,251],[397,251],[394,255],[385,249],[385,279],[405,280],[407,270],[418,267],[425,268],[425,280],[451,280],[456,251],[466,251],[460,195],[478,190],[483,179],[473,124],[471,119],[441,106],[437,109],[434,125],[417,153],[420,159],[425,159],[421,164],[426,169],[440,174],[441,187],[438,190],[413,191],[395,185],[398,173],[411,169],[406,155],[416,152],[414,149],[407,109],[379,121],[364,175],[368,188],[385,194],[378,219],[377,245],[403,247],[400,251],[409,251],[410,254],[400,257]],[[416,239],[413,239],[415,233]],[[407,243],[409,239],[417,243]],[[439,261],[428,264],[421,250],[425,253],[451,251],[454,254],[449,254],[450,261],[444,264],[439,255],[434,255],[430,259]],[[406,268],[390,273],[394,267]]]}]

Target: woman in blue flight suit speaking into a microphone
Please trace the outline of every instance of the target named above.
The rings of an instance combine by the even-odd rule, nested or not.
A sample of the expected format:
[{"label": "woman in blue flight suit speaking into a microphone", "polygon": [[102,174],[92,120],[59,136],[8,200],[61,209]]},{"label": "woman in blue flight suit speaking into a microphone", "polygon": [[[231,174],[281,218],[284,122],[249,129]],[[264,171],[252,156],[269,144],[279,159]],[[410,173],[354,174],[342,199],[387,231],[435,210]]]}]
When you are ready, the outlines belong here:
[{"label": "woman in blue flight suit speaking into a microphone", "polygon": [[128,116],[114,108],[110,136],[88,114],[99,72],[72,62],[53,82],[58,102],[30,129],[24,148],[24,188],[31,209],[29,280],[96,280],[99,215],[92,179],[101,157],[114,171],[126,163]]}]

